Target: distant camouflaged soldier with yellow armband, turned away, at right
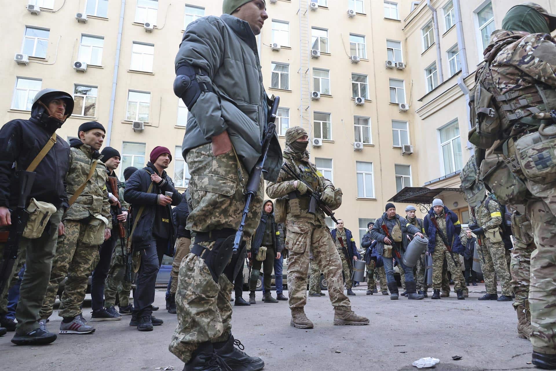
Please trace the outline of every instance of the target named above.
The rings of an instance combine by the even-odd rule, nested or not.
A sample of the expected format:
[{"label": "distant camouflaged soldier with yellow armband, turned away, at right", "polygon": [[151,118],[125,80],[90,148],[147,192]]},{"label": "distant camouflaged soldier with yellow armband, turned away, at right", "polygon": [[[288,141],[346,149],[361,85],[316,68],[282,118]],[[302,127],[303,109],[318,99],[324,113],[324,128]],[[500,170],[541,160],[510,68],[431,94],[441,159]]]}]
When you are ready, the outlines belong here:
[{"label": "distant camouflaged soldier with yellow armband, turned away, at right", "polygon": [[[476,210],[476,218],[471,219],[469,225],[471,232],[481,240],[479,261],[483,271],[486,294],[479,300],[512,301],[512,288],[510,286],[510,273],[506,262],[504,242],[502,241],[502,214],[500,205],[492,198],[486,197]],[[502,281],[502,296],[497,294],[496,278]]]}]

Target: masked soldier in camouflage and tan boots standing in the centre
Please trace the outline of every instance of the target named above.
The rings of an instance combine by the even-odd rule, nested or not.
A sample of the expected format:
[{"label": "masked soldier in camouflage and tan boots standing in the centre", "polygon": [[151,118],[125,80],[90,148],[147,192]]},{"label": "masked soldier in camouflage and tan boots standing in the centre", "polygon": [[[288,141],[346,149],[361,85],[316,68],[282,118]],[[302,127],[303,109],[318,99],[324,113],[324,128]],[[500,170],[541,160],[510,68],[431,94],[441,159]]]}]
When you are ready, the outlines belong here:
[{"label": "masked soldier in camouflage and tan boots standing in the centre", "polygon": [[[322,201],[327,205],[335,202],[334,185],[320,174],[309,161],[307,144],[309,136],[304,128],[290,127],[286,131],[286,148],[284,161],[295,171],[300,180],[294,179],[283,169],[276,182],[268,182],[266,193],[271,198],[288,197],[275,204],[276,209],[285,207],[286,211],[286,249],[289,251],[287,266],[287,289],[290,295],[290,325],[296,328],[312,328],[312,322],[305,315],[303,307],[307,302],[307,270],[309,270],[309,250],[315,257],[315,263],[322,269],[332,306],[334,306],[334,324],[362,325],[369,320],[356,315],[351,310],[350,300],[344,295],[344,280],[340,256],[324,220],[325,214],[320,209],[309,214],[310,197],[306,194],[309,184],[315,192],[322,192]],[[277,211],[278,212],[278,211]]]}]

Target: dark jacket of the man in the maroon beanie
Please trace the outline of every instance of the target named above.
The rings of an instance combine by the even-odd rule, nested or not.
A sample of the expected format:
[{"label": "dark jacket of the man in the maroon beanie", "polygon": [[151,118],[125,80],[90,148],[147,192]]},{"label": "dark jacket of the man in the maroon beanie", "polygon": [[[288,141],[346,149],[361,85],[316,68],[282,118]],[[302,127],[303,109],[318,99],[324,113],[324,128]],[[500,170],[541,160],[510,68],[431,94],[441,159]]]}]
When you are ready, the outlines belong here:
[{"label": "dark jacket of the man in the maroon beanie", "polygon": [[[133,175],[130,176],[130,179],[126,181],[126,190],[123,193],[123,199],[131,205],[130,226],[133,226],[135,217],[141,206],[145,206],[131,239],[134,250],[146,249],[147,246],[151,244],[153,238],[152,227],[155,222],[156,207],[158,207],[158,195],[163,195],[164,192],[172,192],[172,206],[177,206],[181,202],[181,194],[174,188],[172,179],[166,174],[166,171],[162,171],[162,175],[157,173],[162,180],[165,181],[162,187],[155,184],[151,192],[147,193],[148,187],[152,182],[151,174],[155,172],[157,172],[155,166],[152,165],[151,162],[148,162],[147,166],[134,172]],[[168,207],[168,214],[172,215],[170,205],[166,207]],[[170,225],[172,232],[171,235],[168,236],[168,246],[173,247],[176,241],[176,229],[173,223],[170,223]]]}]

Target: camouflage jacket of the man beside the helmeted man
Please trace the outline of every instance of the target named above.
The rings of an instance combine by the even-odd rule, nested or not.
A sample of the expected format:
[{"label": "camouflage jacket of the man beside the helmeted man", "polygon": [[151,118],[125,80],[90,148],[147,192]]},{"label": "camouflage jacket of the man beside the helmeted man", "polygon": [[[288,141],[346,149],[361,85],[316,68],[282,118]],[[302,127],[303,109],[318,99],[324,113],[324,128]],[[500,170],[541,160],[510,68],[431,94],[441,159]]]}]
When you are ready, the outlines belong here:
[{"label": "camouflage jacket of the man beside the helmeted man", "polygon": [[[93,156],[98,156],[90,146],[82,144],[79,140],[71,141],[71,164],[66,174],[66,190],[68,199],[71,199],[75,191],[85,182],[91,169]],[[108,190],[106,181],[108,174],[106,165],[97,159],[96,170],[87,182],[85,189],[73,205],[69,206],[63,216],[63,220],[81,220],[92,215],[102,215],[108,220],[106,227],[112,227],[112,216],[110,215],[110,202],[108,202]]]}]

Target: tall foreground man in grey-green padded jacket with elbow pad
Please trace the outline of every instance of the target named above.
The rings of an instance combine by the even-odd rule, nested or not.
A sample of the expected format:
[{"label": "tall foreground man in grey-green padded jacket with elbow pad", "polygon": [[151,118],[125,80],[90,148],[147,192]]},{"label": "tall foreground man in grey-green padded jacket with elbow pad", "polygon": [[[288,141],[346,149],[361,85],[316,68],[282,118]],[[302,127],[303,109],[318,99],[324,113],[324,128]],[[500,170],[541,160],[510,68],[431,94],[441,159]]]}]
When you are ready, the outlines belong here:
[{"label": "tall foreground man in grey-green padded jacket with elbow pad", "polygon": [[[271,101],[255,38],[268,14],[264,0],[224,0],[222,13],[190,23],[176,56],[173,88],[189,111],[182,151],[191,174],[186,228],[192,243],[180,266],[178,325],[169,348],[186,363],[185,370],[260,370],[259,357],[234,347],[244,348],[231,334],[229,301],[237,264],[228,265],[235,260],[243,266],[244,246],[232,255],[242,219],[245,239],[260,221],[264,182],[252,175],[261,174],[255,165],[260,165],[263,138],[270,142],[263,156],[265,179],[275,181],[282,164],[276,132],[266,130],[274,123],[267,117]],[[277,105],[272,106],[275,111]],[[245,217],[244,190],[251,201]]]}]

